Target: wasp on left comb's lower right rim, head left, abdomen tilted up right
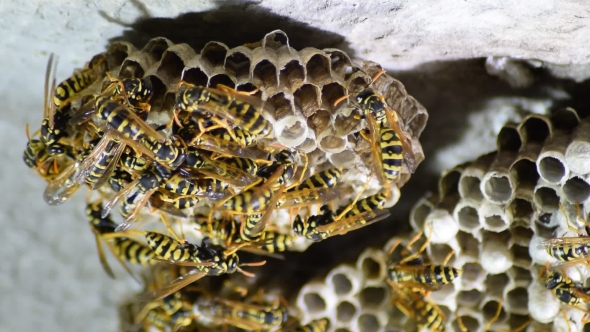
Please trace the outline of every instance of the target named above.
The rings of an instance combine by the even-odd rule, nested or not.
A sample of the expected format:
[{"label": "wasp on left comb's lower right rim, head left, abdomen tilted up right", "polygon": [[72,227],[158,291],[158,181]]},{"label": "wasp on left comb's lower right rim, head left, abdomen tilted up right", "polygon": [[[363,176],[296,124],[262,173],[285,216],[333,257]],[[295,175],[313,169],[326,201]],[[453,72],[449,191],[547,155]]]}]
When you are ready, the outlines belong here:
[{"label": "wasp on left comb's lower right rim, head left, abdomen tilted up right", "polygon": [[357,201],[339,220],[335,219],[336,215],[342,214],[344,209],[339,209],[334,214],[328,206],[324,205],[320,208],[321,214],[311,216],[305,221],[299,215],[295,216],[293,231],[315,242],[330,236],[344,235],[387,218],[390,213],[383,208],[385,202],[386,197],[382,193],[369,196]]}]

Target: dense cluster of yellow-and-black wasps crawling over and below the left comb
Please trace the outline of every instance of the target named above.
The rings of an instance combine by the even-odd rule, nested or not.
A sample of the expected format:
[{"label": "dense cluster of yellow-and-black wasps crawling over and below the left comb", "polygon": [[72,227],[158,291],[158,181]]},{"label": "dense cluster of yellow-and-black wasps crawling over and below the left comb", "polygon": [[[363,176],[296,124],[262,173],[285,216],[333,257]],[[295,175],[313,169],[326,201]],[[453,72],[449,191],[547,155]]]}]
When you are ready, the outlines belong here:
[{"label": "dense cluster of yellow-and-black wasps crawling over and below the left comb", "polygon": [[[178,329],[195,319],[216,317],[218,324],[246,330],[283,327],[286,315],[278,317],[282,312],[278,307],[211,300],[211,295],[201,294],[188,301],[190,309],[184,296],[205,276],[234,272],[253,276],[241,267],[264,264],[240,263],[238,251],[279,257],[298,238],[321,241],[386,218],[384,205],[402,163],[414,168],[409,140],[396,113],[369,87],[350,99],[368,124],[358,135],[371,144],[371,175],[383,189],[361,199],[368,181],[353,195],[353,188],[342,181],[346,173],[342,168],[307,174],[307,156],[274,137],[273,122],[265,116],[272,112],[255,96],[257,90],[211,88],[181,80],[174,106],[170,112],[160,112],[167,113],[167,121],[154,124],[148,121],[155,93],[149,77],[115,78],[106,54],[95,56],[59,84],[55,67],[52,55],[41,129],[31,137],[27,127],[24,161],[48,182],[44,199],[49,205],[64,203],[83,186],[99,196],[88,203],[87,216],[100,262],[110,276],[114,274],[102,242],[132,274],[127,263],[169,264],[154,272],[162,278],[156,278],[159,281],[141,296],[148,305],[136,323],[146,326]],[[342,204],[345,196],[352,201]],[[118,203],[121,222],[111,216]],[[203,206],[209,210],[198,212]],[[144,207],[160,216],[168,235],[132,228],[141,223]],[[269,222],[276,218],[275,211],[285,209],[292,219],[288,233]],[[305,217],[301,211],[306,211]],[[174,226],[182,223],[174,225],[169,216],[194,225],[201,243],[186,241],[184,232],[178,236]],[[295,328],[322,331],[325,326],[325,321],[317,321]]]}]

